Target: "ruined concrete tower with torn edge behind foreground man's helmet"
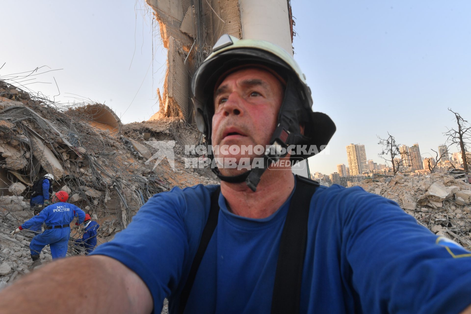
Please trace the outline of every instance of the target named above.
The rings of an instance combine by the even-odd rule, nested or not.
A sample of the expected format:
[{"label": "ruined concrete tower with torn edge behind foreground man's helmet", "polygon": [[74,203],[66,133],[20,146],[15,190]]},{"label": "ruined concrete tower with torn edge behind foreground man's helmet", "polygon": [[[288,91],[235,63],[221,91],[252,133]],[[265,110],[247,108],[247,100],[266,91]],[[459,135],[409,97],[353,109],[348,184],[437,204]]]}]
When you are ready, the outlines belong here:
[{"label": "ruined concrete tower with torn edge behind foreground man's helmet", "polygon": [[[222,34],[268,40],[292,55],[293,19],[286,0],[146,0],[168,49],[164,86],[157,90],[159,117],[179,116],[192,123],[190,82]],[[263,12],[263,14],[260,14]]]}]

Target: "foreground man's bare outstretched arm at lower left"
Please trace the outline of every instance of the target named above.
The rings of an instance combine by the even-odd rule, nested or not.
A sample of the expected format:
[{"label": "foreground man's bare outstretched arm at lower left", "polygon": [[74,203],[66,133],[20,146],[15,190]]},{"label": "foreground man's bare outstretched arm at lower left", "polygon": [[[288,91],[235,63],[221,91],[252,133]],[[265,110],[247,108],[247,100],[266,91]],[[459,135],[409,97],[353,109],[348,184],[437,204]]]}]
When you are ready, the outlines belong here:
[{"label": "foreground man's bare outstretched arm at lower left", "polygon": [[113,258],[64,258],[0,292],[0,313],[150,313],[146,284]]}]

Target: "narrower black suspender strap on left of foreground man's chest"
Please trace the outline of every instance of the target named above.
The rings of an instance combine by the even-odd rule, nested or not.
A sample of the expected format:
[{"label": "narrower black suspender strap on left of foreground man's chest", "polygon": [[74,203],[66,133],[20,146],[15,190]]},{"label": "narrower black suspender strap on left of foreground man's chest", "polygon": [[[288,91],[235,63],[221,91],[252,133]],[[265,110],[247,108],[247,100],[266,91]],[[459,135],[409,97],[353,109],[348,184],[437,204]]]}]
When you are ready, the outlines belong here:
[{"label": "narrower black suspender strap on left of foreground man's chest", "polygon": [[193,259],[193,264],[191,264],[190,273],[188,274],[187,283],[180,295],[180,306],[179,313],[185,311],[185,306],[187,306],[188,297],[190,296],[191,287],[193,287],[193,282],[195,281],[196,272],[201,264],[203,259],[204,252],[208,247],[209,241],[211,240],[214,229],[218,225],[218,216],[219,216],[219,193],[221,192],[220,186],[211,194],[211,208],[209,210],[208,220],[203,229],[203,234],[201,235],[200,245],[196,251],[195,258]]}]

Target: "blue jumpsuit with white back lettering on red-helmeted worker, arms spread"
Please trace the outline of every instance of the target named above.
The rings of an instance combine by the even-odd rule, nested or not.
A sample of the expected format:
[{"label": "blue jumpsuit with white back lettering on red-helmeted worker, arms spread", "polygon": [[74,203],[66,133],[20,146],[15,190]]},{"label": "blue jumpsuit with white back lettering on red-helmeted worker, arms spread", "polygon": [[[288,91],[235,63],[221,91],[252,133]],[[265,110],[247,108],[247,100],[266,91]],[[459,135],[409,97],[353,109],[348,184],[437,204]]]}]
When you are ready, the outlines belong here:
[{"label": "blue jumpsuit with white back lettering on red-helmeted worker, arms spread", "polygon": [[[79,217],[79,224],[81,224],[85,219],[85,212],[83,210],[70,203],[57,202],[41,210],[39,215],[25,221],[21,227],[29,229],[32,225],[42,222],[45,222],[48,227],[69,225],[73,218],[77,216]],[[70,226],[45,230],[31,240],[31,255],[40,254],[41,250],[49,244],[52,258],[65,257],[69,237]]]}]

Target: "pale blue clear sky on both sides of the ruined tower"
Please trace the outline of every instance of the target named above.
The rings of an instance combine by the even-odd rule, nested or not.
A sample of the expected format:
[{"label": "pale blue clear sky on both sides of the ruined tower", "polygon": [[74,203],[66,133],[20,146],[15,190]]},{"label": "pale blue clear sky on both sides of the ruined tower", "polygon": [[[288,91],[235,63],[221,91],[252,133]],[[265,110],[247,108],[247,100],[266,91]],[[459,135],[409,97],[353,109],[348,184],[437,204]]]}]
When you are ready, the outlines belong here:
[{"label": "pale blue clear sky on both sides of the ruined tower", "polygon": [[[78,94],[110,105],[123,122],[148,119],[166,51],[142,3],[4,1],[0,76],[63,69],[36,76],[52,84],[26,87],[52,98],[54,76],[56,100],[73,102],[66,93]],[[311,171],[347,164],[349,143],[365,144],[367,158],[380,162],[376,135],[388,131],[400,144],[418,142],[422,154],[431,152],[454,126],[447,107],[471,119],[471,2],[292,0],[292,12],[295,59],[314,109],[337,125],[329,154],[312,157]]]}]

